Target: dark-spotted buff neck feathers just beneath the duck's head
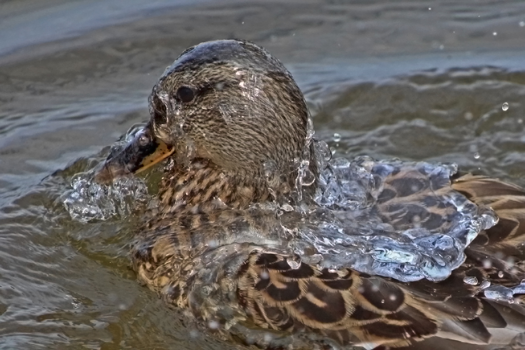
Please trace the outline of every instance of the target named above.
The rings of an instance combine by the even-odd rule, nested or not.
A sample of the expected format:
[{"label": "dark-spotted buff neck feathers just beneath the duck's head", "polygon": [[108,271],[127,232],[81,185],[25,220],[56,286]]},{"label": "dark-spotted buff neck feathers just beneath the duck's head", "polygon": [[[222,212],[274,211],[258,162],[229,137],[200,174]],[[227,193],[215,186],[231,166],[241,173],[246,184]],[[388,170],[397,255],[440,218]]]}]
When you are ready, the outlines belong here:
[{"label": "dark-spotted buff neck feathers just beneath the duck's head", "polygon": [[210,161],[196,158],[190,165],[173,165],[163,177],[159,192],[161,213],[191,210],[245,209],[271,199],[264,181],[228,174]]}]

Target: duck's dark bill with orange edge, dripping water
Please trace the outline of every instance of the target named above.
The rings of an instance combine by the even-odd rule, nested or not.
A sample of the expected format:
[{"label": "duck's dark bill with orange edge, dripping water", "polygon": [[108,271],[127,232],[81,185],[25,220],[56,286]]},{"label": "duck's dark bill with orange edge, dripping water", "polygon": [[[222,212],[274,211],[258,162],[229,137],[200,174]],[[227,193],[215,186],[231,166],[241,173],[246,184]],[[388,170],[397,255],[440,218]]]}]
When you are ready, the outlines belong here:
[{"label": "duck's dark bill with orange edge, dripping water", "polygon": [[174,147],[157,139],[150,124],[139,131],[128,144],[113,150],[95,173],[95,181],[108,184],[117,177],[137,174],[164,160]]}]

